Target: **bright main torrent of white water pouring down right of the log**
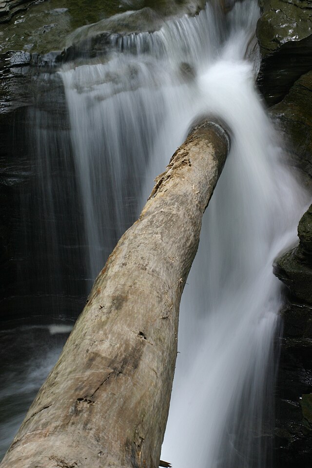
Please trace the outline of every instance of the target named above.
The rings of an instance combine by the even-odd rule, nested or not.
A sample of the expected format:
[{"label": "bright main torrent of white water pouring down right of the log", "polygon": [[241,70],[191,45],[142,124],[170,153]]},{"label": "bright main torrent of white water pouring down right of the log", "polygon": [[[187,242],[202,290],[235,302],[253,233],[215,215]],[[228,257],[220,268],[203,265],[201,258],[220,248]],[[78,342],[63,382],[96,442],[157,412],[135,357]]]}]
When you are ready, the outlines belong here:
[{"label": "bright main torrent of white water pouring down right of the log", "polygon": [[230,57],[225,50],[199,80],[202,103],[232,129],[232,147],[181,304],[163,445],[164,459],[180,467],[194,461],[209,468],[263,467],[270,461],[282,305],[272,265],[295,239],[303,204],[251,67],[230,58],[233,50]]}]

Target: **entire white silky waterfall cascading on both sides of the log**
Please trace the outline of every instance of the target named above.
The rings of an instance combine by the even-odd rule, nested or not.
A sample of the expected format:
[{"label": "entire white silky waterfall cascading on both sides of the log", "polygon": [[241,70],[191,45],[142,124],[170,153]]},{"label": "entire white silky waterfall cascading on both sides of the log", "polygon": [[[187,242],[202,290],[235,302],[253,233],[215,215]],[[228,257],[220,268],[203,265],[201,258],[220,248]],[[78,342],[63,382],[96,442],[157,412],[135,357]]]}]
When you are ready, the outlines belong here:
[{"label": "entire white silky waterfall cascading on both sides of the log", "polygon": [[180,468],[267,461],[281,306],[272,264],[295,238],[304,195],[254,89],[247,57],[258,15],[255,0],[227,15],[208,3],[153,34],[113,36],[105,61],[58,72],[70,123],[72,155],[64,157],[73,157],[77,177],[68,203],[81,200],[88,281],[195,119],[218,117],[231,132],[181,303],[163,444],[163,458]]}]

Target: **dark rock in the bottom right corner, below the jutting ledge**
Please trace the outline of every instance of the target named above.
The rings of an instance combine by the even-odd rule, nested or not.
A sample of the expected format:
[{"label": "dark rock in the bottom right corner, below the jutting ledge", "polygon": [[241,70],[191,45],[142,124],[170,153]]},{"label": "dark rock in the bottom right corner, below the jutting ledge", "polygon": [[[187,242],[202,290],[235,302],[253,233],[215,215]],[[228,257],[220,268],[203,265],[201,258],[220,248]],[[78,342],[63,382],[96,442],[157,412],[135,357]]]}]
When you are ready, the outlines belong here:
[{"label": "dark rock in the bottom right corner, below the jutting ledge", "polygon": [[288,303],[276,385],[275,457],[282,468],[311,465],[312,308]]}]

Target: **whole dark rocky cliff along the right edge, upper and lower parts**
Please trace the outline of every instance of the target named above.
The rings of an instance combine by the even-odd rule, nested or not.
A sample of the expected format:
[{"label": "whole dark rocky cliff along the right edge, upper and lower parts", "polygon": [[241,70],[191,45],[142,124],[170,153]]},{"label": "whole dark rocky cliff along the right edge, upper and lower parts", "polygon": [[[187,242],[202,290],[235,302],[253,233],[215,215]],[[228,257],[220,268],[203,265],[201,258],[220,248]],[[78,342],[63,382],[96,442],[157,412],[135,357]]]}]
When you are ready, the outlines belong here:
[{"label": "whole dark rocky cliff along the right edge, upper and lower parts", "polygon": [[[312,1],[259,0],[258,85],[287,142],[285,158],[312,193]],[[275,455],[283,468],[312,460],[312,207],[298,226],[299,245],[276,261],[287,287],[276,388]]]}]

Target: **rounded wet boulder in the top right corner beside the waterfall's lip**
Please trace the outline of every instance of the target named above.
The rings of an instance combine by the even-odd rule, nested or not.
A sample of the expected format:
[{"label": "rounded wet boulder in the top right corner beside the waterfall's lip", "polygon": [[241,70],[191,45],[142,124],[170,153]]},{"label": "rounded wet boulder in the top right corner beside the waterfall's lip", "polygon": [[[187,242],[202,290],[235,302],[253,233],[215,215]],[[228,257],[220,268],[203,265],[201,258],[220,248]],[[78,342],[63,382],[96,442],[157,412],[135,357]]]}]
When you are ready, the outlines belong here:
[{"label": "rounded wet boulder in the top right corner beside the waterfall's lip", "polygon": [[312,69],[312,0],[259,0],[257,37],[262,63],[258,84],[269,106]]}]

